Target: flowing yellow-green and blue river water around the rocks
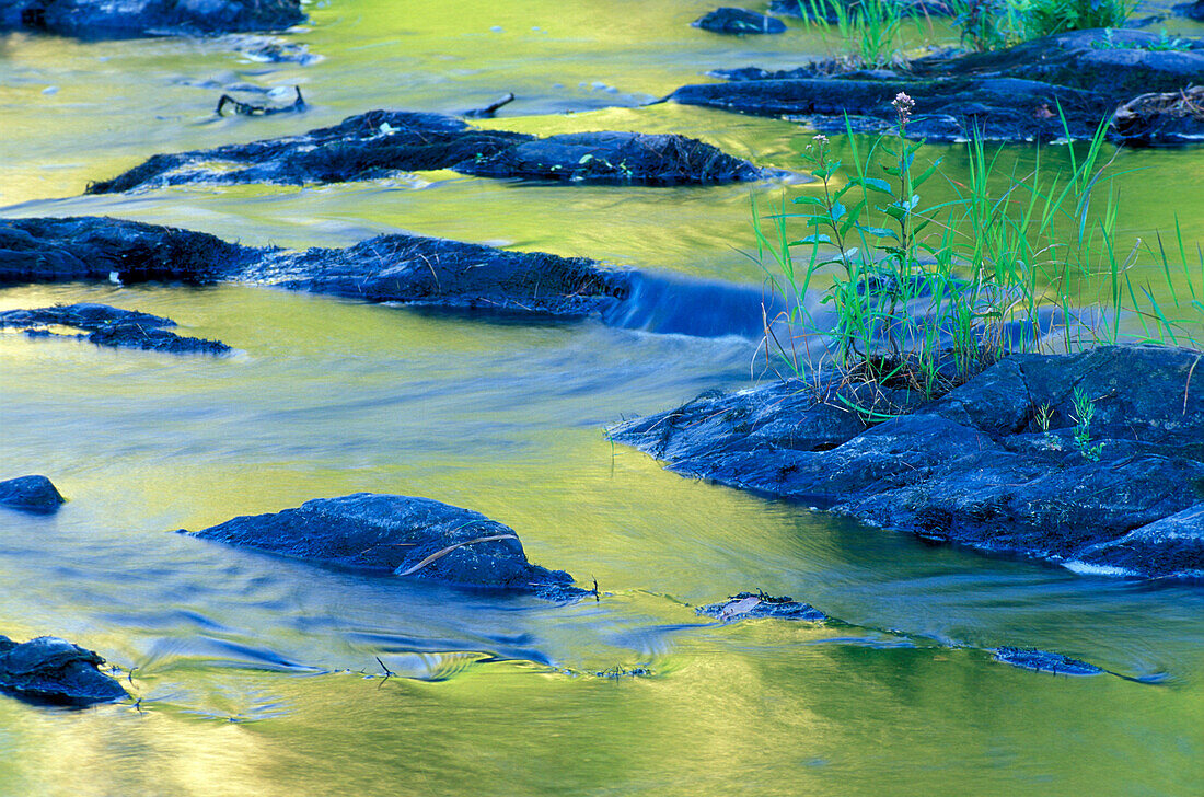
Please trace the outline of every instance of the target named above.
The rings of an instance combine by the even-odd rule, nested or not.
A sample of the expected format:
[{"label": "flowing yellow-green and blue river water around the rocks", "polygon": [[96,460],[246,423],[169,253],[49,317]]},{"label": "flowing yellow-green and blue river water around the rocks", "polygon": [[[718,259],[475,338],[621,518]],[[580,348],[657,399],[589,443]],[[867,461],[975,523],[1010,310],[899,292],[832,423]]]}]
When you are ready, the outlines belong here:
[{"label": "flowing yellow-green and blue river water around the rocks", "polygon": [[[250,61],[230,37],[10,35],[0,213],[112,214],[294,247],[408,230],[755,289],[762,272],[740,253],[748,185],[437,172],[78,196],[160,150],[372,107],[458,112],[506,91],[519,100],[488,124],[681,131],[797,169],[807,136],[793,124],[639,107],[708,69],[797,65],[826,46],[798,26],[724,39],[687,25],[710,7],[331,0],[290,36],[324,58],[308,66]],[[216,120],[220,91],[196,88],[206,81],[301,84],[313,107]],[[958,148],[943,154],[964,173]],[[1178,212],[1188,246],[1204,238],[1199,150],[1119,160],[1137,170],[1122,181],[1123,229],[1149,236]],[[603,426],[626,414],[751,384],[761,367],[743,337],[240,285],[0,291],[0,308],[76,301],[169,315],[238,354],[0,336],[0,476],[46,473],[70,498],[51,518],[0,513],[0,632],[96,649],[132,671],[138,698],[90,710],[0,699],[2,795],[1204,793],[1198,586],[931,548],[683,479],[607,442]],[[691,307],[628,325],[660,329],[660,312]],[[360,490],[483,512],[518,530],[532,561],[596,579],[603,596],[498,600],[171,533]],[[695,615],[757,588],[851,625]],[[1001,644],[1159,683],[1014,669],[991,661]]]}]

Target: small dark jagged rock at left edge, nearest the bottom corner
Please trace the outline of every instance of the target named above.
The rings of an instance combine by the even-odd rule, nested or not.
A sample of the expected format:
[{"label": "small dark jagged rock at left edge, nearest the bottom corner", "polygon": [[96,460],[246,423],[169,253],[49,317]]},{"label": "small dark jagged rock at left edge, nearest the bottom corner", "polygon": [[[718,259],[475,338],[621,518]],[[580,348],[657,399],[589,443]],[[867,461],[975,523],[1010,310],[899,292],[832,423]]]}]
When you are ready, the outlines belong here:
[{"label": "small dark jagged rock at left edge, nearest the bottom corner", "polygon": [[16,643],[0,636],[0,690],[36,702],[92,706],[128,697],[100,672],[105,660],[58,637]]}]

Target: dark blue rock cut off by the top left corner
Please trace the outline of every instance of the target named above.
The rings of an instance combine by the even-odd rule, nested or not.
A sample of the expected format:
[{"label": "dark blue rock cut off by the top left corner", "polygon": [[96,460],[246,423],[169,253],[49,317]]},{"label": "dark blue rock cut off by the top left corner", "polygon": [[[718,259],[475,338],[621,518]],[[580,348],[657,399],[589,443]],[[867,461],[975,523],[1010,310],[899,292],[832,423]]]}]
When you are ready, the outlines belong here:
[{"label": "dark blue rock cut off by the top left corner", "polygon": [[78,39],[271,31],[301,22],[299,0],[0,0],[0,31]]}]

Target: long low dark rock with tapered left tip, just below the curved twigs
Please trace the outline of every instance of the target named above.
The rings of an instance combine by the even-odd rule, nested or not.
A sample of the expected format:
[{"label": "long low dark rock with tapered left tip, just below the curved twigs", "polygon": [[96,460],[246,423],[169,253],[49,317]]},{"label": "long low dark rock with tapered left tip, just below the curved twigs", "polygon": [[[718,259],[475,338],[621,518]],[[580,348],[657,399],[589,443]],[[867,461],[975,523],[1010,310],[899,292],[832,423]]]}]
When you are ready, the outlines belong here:
[{"label": "long low dark rock with tapered left tip, just below the curved twigs", "polygon": [[300,136],[153,155],[88,194],[187,183],[342,183],[450,169],[561,183],[679,185],[760,179],[767,172],[680,135],[576,132],[547,138],[480,130],[437,113],[370,111]]}]

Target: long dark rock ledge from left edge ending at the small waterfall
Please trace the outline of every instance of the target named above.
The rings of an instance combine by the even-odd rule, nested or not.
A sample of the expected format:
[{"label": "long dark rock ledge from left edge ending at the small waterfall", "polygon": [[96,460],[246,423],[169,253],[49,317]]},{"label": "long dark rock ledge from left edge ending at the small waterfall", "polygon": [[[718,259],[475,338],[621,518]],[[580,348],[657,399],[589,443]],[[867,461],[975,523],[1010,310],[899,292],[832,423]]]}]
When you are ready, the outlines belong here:
[{"label": "long dark rock ledge from left edge ending at the small waterfall", "polygon": [[0,283],[113,277],[250,282],[374,302],[559,318],[613,311],[631,281],[630,272],[585,258],[413,235],[290,252],[104,217],[0,219]]}]

